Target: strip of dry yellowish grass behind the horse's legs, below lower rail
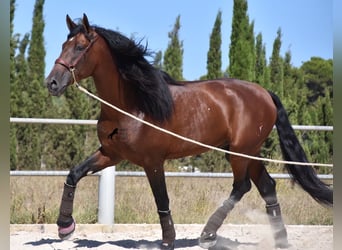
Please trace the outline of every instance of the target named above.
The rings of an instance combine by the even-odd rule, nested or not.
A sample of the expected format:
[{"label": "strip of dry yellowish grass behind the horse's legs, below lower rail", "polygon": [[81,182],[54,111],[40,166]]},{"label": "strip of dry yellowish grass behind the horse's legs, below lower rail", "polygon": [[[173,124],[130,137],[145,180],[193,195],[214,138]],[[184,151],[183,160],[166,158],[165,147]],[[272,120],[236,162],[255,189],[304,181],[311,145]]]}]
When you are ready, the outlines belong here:
[{"label": "strip of dry yellowish grass behind the horse's legs, below lower rail", "polygon": [[[65,177],[11,177],[11,223],[55,223]],[[175,223],[205,223],[231,191],[232,179],[168,177],[170,208]],[[116,223],[158,223],[152,192],[144,177],[117,177]],[[286,224],[333,223],[332,209],[322,207],[290,180],[277,181]],[[86,177],[76,190],[74,218],[96,223],[98,179]],[[268,223],[264,201],[255,187],[229,214],[228,223]]]}]

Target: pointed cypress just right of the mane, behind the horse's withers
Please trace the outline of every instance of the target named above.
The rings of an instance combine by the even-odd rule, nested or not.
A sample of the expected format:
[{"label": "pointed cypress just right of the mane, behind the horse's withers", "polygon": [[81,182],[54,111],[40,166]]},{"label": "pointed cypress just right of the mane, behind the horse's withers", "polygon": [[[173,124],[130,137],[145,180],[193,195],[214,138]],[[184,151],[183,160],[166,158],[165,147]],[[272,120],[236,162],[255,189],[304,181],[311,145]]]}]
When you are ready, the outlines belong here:
[{"label": "pointed cypress just right of the mane, behind the horse's withers", "polygon": [[179,40],[180,15],[168,36],[168,47],[164,53],[164,70],[176,80],[183,80],[183,42]]}]

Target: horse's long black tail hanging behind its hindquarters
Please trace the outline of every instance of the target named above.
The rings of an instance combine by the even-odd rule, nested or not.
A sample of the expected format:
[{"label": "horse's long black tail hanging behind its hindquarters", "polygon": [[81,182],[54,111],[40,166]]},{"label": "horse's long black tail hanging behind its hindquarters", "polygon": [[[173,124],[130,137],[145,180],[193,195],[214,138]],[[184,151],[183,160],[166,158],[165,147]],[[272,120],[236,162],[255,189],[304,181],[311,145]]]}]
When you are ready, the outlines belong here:
[{"label": "horse's long black tail hanging behind its hindquarters", "polygon": [[[287,113],[278,96],[269,92],[277,107],[276,127],[280,148],[286,161],[308,162],[305,152],[290,124]],[[333,191],[323,183],[310,165],[286,164],[286,169],[294,181],[308,192],[316,201],[329,206],[333,205]]]}]

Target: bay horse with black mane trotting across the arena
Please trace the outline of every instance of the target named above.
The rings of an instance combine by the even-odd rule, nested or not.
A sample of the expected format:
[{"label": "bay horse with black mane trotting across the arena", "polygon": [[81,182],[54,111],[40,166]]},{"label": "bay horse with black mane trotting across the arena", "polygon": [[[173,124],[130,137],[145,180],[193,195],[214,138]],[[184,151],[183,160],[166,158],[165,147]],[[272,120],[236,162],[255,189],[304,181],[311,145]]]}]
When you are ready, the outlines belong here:
[{"label": "bay horse with black mane trotting across the arena", "polygon": [[[122,34],[90,26],[86,15],[76,24],[66,18],[70,34],[46,79],[49,92],[61,95],[66,87],[93,77],[105,101],[145,121],[202,143],[258,156],[272,127],[288,161],[308,162],[278,97],[261,86],[237,79],[175,82],[146,59],[146,47]],[[75,78],[75,79],[74,79]],[[166,159],[200,154],[206,148],[164,134],[101,104],[97,124],[100,148],[72,168],[64,185],[57,220],[64,239],[75,230],[72,217],[78,181],[127,159],[144,168],[157,205],[162,249],[173,249],[176,237],[169,208],[163,163]],[[229,211],[251,189],[252,180],[266,202],[277,247],[287,247],[287,233],[276,197],[275,181],[261,161],[226,155],[234,174],[229,198],[209,218],[199,239],[208,248]],[[314,199],[333,204],[333,192],[311,166],[286,165],[293,179]]]}]

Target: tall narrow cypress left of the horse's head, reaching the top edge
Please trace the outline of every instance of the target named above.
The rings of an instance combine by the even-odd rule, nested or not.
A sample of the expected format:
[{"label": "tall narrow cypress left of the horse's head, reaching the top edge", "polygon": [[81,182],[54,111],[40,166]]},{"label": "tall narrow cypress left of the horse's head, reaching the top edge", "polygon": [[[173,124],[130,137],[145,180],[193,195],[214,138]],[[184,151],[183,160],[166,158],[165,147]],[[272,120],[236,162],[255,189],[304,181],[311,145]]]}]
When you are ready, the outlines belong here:
[{"label": "tall narrow cypress left of the horse's head, reaching the top edge", "polygon": [[[44,117],[46,103],[48,102],[47,92],[44,87],[44,68],[45,68],[45,47],[44,47],[44,20],[43,20],[44,0],[36,0],[33,10],[31,40],[27,58],[26,81],[21,82],[25,88],[27,96],[23,96],[25,103],[21,106],[26,111],[25,117]],[[25,133],[21,145],[21,152],[25,154],[23,166],[30,169],[39,169],[43,166],[42,142],[46,132],[44,125],[25,124]],[[21,155],[21,153],[20,153]]]}]

